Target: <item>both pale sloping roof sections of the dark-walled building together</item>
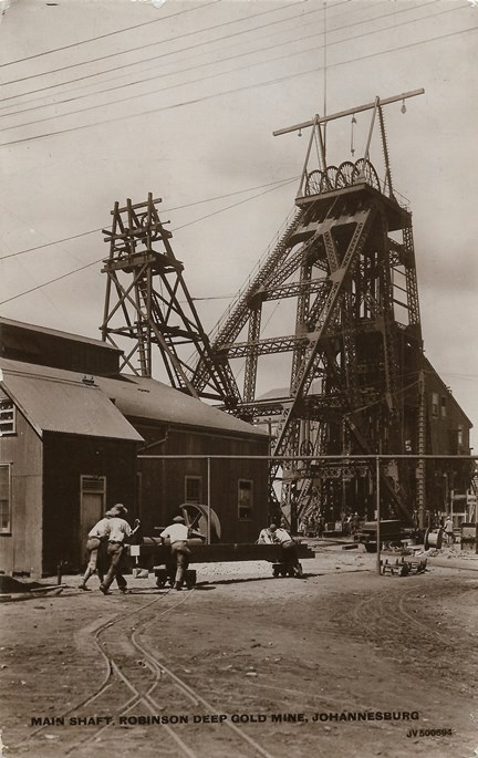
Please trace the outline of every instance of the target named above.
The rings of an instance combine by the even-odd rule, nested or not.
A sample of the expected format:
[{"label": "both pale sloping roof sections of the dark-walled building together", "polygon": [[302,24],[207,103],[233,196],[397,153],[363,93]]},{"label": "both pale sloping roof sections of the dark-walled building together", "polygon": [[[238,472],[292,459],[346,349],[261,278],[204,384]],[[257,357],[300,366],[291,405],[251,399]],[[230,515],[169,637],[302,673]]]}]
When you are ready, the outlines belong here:
[{"label": "both pale sloping roof sections of the dark-walled building together", "polygon": [[[125,416],[245,436],[268,436],[157,380],[83,374],[0,359],[3,387],[39,430],[142,440]],[[83,380],[93,381],[85,384]]]}]

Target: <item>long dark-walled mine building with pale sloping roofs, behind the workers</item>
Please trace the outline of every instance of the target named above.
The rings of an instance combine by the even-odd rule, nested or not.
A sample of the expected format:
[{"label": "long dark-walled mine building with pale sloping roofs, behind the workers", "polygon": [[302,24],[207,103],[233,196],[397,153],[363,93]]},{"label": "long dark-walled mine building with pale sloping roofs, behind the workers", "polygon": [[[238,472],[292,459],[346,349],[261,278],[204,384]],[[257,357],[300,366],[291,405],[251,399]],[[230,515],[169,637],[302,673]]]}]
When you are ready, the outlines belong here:
[{"label": "long dark-walled mine building with pale sloping roofs, behind the workers", "polygon": [[[119,374],[121,356],[98,340],[0,319],[0,571],[80,569],[89,529],[114,502],[144,533],[208,498],[224,541],[253,542],[263,527],[267,460],[247,459],[268,455],[263,429]],[[215,455],[245,458],[208,466]]]}]

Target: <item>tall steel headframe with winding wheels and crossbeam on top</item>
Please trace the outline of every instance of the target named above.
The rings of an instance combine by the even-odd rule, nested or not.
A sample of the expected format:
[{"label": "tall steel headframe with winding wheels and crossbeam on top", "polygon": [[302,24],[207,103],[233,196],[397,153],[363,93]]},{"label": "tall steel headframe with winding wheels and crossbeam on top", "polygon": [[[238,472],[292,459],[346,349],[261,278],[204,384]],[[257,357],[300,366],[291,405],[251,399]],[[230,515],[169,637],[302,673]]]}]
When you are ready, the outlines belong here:
[{"label": "tall steel headframe with winding wheels and crossbeam on top", "polygon": [[[282,478],[281,508],[292,528],[318,508],[326,521],[347,510],[374,517],[375,461],[313,456],[425,453],[412,215],[394,193],[383,113],[389,103],[422,92],[376,97],[274,133],[311,131],[295,212],[211,336],[214,354],[245,361],[235,413],[272,419],[274,455],[309,458],[277,463],[271,470],[272,478]],[[362,157],[329,165],[325,124],[365,111],[372,117]],[[374,129],[382,141],[383,178],[370,160]],[[263,309],[285,300],[294,302],[289,332],[262,336]],[[257,397],[260,362],[279,353],[284,365],[289,355],[285,396]],[[193,377],[198,392],[208,378],[199,359]],[[423,523],[424,461],[396,459],[383,467],[381,492],[383,518]]]}]

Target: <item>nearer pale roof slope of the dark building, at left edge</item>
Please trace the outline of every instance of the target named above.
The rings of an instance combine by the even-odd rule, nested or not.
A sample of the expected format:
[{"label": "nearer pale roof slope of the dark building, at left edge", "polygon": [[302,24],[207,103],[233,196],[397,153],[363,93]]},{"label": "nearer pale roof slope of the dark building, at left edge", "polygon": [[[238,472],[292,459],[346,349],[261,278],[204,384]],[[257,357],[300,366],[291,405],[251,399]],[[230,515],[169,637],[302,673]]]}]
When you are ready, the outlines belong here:
[{"label": "nearer pale roof slope of the dark building, at left edge", "polygon": [[0,359],[2,386],[41,435],[61,432],[142,442],[98,386],[81,374]]}]

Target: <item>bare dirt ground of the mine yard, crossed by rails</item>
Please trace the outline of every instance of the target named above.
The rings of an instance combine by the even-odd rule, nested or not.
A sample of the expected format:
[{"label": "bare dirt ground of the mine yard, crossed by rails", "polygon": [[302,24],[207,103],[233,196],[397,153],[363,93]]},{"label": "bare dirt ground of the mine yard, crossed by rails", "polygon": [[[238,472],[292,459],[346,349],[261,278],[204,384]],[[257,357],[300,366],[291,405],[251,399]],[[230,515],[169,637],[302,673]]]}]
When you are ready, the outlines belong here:
[{"label": "bare dirt ground of the mine yard, crossed by rails", "polygon": [[0,756],[478,755],[478,561],[378,577],[316,550],[303,579],[209,564],[191,591],[67,577],[3,602]]}]

